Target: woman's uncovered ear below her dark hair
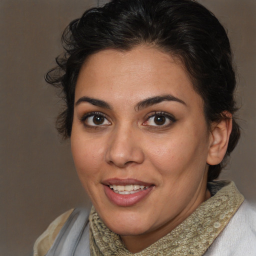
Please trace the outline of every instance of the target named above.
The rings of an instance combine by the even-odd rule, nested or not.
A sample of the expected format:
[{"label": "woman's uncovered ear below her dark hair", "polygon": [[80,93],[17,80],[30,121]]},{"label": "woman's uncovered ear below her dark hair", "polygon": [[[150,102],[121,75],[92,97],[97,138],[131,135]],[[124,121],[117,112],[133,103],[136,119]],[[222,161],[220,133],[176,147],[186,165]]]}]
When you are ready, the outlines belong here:
[{"label": "woman's uncovered ear below her dark hair", "polygon": [[226,118],[218,123],[212,123],[209,136],[209,149],[207,163],[210,165],[218,164],[224,158],[226,153],[229,135],[232,130],[232,115],[227,112],[223,115]]}]

